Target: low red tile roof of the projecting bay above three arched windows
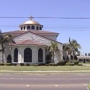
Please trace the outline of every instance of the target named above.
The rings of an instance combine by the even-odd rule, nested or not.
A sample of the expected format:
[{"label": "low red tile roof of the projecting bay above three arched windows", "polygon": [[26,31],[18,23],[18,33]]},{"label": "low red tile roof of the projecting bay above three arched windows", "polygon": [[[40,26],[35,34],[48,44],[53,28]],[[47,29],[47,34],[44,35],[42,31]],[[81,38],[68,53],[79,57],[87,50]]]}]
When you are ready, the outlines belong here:
[{"label": "low red tile roof of the projecting bay above three arched windows", "polygon": [[47,46],[47,45],[44,45],[42,43],[39,43],[39,42],[36,42],[36,41],[33,41],[33,40],[25,40],[25,41],[21,41],[21,42],[17,42],[15,44],[10,44],[11,46],[12,45],[39,45],[39,46]]}]

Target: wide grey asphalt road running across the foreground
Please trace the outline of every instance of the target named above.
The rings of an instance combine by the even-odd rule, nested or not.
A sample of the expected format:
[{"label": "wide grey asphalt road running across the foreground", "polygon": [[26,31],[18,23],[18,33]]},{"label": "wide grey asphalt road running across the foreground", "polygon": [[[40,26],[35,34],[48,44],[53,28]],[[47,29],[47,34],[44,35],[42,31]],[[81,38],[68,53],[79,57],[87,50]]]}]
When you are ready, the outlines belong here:
[{"label": "wide grey asphalt road running across the foreground", "polygon": [[87,90],[90,73],[0,74],[0,90]]}]

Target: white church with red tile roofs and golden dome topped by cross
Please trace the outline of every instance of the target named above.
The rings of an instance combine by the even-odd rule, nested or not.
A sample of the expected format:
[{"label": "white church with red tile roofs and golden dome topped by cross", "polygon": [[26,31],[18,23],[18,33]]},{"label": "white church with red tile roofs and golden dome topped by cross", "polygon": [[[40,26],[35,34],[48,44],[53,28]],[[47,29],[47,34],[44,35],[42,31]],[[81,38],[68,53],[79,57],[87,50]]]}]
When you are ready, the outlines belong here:
[{"label": "white church with red tile roofs and golden dome topped by cross", "polygon": [[32,17],[19,25],[20,30],[5,32],[13,36],[15,44],[9,44],[10,52],[7,50],[6,59],[11,55],[11,63],[46,63],[48,51],[46,48],[51,42],[57,42],[61,56],[54,54],[54,62],[62,60],[62,43],[57,41],[59,33],[43,30],[43,25],[34,21]]}]

